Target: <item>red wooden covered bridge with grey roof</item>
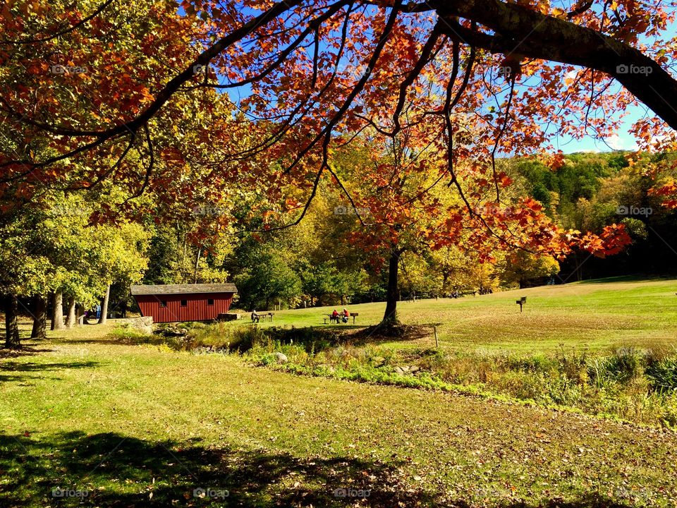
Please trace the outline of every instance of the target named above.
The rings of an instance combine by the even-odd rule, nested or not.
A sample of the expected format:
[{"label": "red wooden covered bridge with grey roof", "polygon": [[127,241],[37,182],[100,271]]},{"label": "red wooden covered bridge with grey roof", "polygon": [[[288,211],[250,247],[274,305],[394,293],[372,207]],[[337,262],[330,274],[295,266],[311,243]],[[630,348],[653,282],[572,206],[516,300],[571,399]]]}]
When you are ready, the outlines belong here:
[{"label": "red wooden covered bridge with grey roof", "polygon": [[235,284],[161,284],[132,286],[141,315],[153,322],[208,321],[227,313],[238,292]]}]

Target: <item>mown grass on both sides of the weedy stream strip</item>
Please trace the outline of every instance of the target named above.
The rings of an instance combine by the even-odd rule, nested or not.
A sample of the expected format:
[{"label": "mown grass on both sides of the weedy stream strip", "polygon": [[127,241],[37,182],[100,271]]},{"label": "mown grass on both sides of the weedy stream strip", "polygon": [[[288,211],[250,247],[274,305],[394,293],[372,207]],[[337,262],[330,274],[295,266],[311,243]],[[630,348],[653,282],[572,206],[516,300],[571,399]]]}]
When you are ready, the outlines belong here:
[{"label": "mown grass on both sides of the weedy stream strip", "polygon": [[[401,319],[444,322],[450,351],[664,347],[677,336],[674,287],[576,284],[402,303]],[[516,295],[528,298],[522,316]],[[365,325],[382,308],[351,309]],[[274,324],[316,325],[320,314],[283,311]],[[296,376],[238,355],[127,344],[111,331],[53,332],[2,353],[0,506],[677,506],[671,430]]]}]

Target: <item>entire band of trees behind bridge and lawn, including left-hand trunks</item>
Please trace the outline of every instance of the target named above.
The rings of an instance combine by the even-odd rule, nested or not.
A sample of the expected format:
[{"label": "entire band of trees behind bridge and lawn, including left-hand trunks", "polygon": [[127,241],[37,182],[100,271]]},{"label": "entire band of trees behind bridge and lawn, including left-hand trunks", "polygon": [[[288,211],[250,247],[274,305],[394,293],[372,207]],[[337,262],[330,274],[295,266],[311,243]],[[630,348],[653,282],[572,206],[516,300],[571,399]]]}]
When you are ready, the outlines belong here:
[{"label": "entire band of trees behind bridge and lawn, including left-hand trunks", "polygon": [[[269,198],[256,186],[220,201],[202,200],[200,206],[142,196],[149,211],[121,216],[114,224],[100,217],[109,202],[120,199],[114,186],[96,195],[44,195],[39,206],[25,207],[1,226],[8,336],[20,313],[35,317],[35,337],[44,336],[48,317],[53,328],[74,326],[97,303],[104,307],[103,320],[107,314],[124,315],[135,310],[129,286],[138,283],[235,282],[236,307],[264,310],[383,301],[393,277],[399,298],[422,298],[637,272],[676,273],[671,246],[677,245],[677,212],[650,191],[657,180],[673,179],[673,155],[577,153],[566,155],[556,169],[538,157],[499,160],[499,169],[513,181],[506,196],[513,206],[518,198],[532,198],[564,229],[599,233],[609,224],[623,224],[632,240],[616,255],[600,258],[574,250],[560,260],[521,249],[499,249],[487,258],[462,243],[434,243],[430,238],[444,234],[429,231],[444,221],[425,207],[419,215],[379,217],[395,224],[394,250],[371,220],[379,203],[389,199],[381,194],[385,187],[374,187],[353,171],[355,157],[360,154],[337,157],[336,171],[352,185],[348,190],[361,192],[362,202],[374,203],[373,208],[353,207],[327,179],[299,224],[280,222],[274,229],[264,221]],[[423,183],[417,181],[415,188]],[[371,188],[379,191],[367,195]],[[431,202],[454,199],[447,186],[440,188],[431,191]]]}]

